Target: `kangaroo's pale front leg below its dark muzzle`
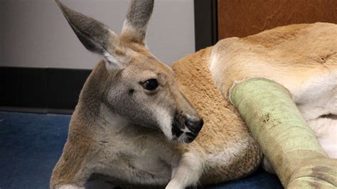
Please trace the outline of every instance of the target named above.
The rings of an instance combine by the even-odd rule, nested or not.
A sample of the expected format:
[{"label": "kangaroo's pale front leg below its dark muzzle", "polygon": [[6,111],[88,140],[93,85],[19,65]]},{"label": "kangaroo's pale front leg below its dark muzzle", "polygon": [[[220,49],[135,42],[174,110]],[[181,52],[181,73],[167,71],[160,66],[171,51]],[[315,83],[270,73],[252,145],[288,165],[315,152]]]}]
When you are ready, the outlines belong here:
[{"label": "kangaroo's pale front leg below its dark muzzle", "polygon": [[166,189],[186,188],[196,185],[203,173],[203,158],[197,152],[187,152],[183,154],[177,166],[173,167],[171,181]]}]

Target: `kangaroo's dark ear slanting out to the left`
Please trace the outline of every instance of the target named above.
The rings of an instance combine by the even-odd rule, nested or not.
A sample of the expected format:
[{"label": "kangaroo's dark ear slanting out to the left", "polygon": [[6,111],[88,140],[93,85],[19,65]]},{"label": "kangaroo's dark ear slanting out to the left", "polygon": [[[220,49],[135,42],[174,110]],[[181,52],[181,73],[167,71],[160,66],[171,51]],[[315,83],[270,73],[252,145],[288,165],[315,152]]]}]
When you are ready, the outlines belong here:
[{"label": "kangaroo's dark ear slanting out to the left", "polygon": [[119,63],[112,55],[114,52],[113,44],[117,39],[117,34],[103,23],[69,9],[61,4],[59,0],[55,1],[76,33],[77,38],[85,45],[85,48],[94,53],[104,55],[112,68],[118,67]]}]

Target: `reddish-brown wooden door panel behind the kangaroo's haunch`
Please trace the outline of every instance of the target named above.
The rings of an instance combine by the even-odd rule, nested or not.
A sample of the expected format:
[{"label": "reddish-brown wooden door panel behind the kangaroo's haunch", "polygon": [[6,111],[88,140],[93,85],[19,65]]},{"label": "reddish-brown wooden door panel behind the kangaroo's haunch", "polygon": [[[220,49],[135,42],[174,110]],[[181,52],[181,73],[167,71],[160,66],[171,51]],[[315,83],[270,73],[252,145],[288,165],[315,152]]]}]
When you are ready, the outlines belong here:
[{"label": "reddish-brown wooden door panel behind the kangaroo's haunch", "polygon": [[218,0],[218,39],[292,23],[337,23],[337,0]]}]

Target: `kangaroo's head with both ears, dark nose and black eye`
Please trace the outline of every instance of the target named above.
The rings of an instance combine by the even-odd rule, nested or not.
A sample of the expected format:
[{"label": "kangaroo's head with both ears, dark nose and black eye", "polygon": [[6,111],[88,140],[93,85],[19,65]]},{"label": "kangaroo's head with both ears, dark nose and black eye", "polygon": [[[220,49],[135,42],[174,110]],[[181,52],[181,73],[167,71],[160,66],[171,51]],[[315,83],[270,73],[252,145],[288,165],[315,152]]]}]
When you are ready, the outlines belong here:
[{"label": "kangaroo's head with both ears, dark nose and black eye", "polygon": [[132,0],[120,35],[56,2],[85,48],[106,59],[110,77],[99,81],[105,83],[102,103],[134,125],[160,129],[171,141],[189,143],[196,138],[203,119],[178,89],[173,70],[144,42],[154,0]]}]

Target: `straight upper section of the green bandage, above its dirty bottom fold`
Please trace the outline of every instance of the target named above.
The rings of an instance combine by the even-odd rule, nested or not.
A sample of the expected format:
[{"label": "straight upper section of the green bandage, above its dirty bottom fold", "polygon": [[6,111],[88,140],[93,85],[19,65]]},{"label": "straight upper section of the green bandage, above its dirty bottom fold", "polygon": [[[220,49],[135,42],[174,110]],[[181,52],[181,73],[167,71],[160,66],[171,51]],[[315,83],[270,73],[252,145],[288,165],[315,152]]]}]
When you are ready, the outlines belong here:
[{"label": "straight upper section of the green bandage, above its dirty bottom fold", "polygon": [[326,157],[282,85],[252,78],[235,85],[230,99],[284,186],[306,160]]}]

